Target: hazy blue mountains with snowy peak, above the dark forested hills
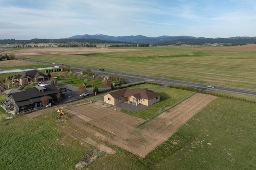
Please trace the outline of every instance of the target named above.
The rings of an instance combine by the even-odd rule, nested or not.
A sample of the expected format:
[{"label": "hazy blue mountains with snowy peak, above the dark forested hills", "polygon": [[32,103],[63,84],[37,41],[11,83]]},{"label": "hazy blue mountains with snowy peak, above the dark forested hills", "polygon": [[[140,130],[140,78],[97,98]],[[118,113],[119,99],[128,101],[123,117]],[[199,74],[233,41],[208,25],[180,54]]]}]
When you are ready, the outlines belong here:
[{"label": "hazy blue mountains with snowy peak, above the dark forested hills", "polygon": [[[109,36],[109,35],[103,35],[103,34],[96,34],[96,35],[75,35],[72,37],[69,37],[69,39],[100,39],[100,40],[105,40],[105,41],[120,41],[120,42],[128,42],[128,43],[138,43],[138,44],[166,44],[166,43],[170,43],[170,42],[174,42],[175,40],[180,40],[180,41],[184,41],[186,42],[189,41],[196,41],[198,43],[204,41],[205,43],[212,42],[213,40],[218,40],[220,41],[220,43],[222,41],[226,42],[226,41],[230,41],[231,39],[253,39],[252,43],[254,43],[256,41],[256,37],[230,37],[230,38],[205,38],[205,37],[192,37],[192,36],[168,36],[168,35],[162,35],[160,37],[146,37],[143,35],[131,35],[131,36],[118,36],[118,37],[114,37],[114,36]],[[214,41],[214,42],[215,42]],[[223,42],[223,43],[224,43]],[[181,42],[182,43],[182,42]],[[247,42],[246,42],[247,43]]]}]

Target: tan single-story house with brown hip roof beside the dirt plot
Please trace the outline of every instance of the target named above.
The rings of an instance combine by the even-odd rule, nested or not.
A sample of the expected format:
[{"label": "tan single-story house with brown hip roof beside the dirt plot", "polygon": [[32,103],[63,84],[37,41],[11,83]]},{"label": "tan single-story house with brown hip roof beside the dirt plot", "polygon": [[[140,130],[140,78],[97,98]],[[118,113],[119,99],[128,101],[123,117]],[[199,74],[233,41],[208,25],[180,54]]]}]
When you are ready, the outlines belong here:
[{"label": "tan single-story house with brown hip roof beside the dirt plot", "polygon": [[150,106],[160,101],[160,95],[148,89],[127,88],[116,92],[111,92],[104,96],[104,102],[112,105],[120,104],[126,101],[128,101],[129,104],[136,102],[136,106],[138,106],[138,104]]}]

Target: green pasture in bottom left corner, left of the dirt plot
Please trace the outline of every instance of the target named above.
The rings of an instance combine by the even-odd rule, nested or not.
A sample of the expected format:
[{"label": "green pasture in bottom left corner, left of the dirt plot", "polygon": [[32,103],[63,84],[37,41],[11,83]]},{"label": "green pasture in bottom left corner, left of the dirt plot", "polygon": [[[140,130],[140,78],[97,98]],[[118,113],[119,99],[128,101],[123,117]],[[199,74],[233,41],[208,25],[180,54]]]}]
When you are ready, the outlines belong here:
[{"label": "green pasture in bottom left corner, left of the dirt plot", "polygon": [[80,156],[94,149],[65,135],[50,118],[0,123],[0,169],[75,169]]}]

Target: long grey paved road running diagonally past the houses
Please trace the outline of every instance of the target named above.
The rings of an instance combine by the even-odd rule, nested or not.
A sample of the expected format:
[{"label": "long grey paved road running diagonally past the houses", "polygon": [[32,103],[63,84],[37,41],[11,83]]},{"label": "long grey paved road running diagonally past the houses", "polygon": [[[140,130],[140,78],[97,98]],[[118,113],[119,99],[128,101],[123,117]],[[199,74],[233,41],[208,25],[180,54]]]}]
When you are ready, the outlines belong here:
[{"label": "long grey paved road running diagonally past the houses", "polygon": [[[32,61],[32,60],[29,60],[29,61]],[[43,63],[43,64],[52,64],[52,63],[43,62],[43,61],[32,61],[32,62]],[[56,64],[56,65],[60,65],[60,64]],[[77,68],[77,69],[80,69],[80,70],[85,70],[86,69],[85,67],[80,67],[80,66],[70,66],[70,67]],[[155,81],[159,81],[159,82],[164,82],[164,83],[174,84],[174,85],[180,85],[180,86],[189,86],[189,87],[193,87],[193,88],[200,89],[200,90],[205,90],[206,89],[206,85],[208,85],[208,84],[184,82],[184,81],[178,81],[178,80],[170,80],[170,79],[166,79],[166,78],[156,78],[156,77],[150,77],[150,76],[141,76],[141,75],[136,75],[136,74],[128,74],[128,73],[114,72],[114,71],[107,71],[107,70],[100,71],[98,69],[93,69],[93,68],[90,68],[90,70],[92,70],[94,72],[102,72],[102,73],[106,73],[106,74],[118,74],[118,75],[121,75],[121,76],[140,78],[140,79],[144,79],[144,80],[155,80]],[[228,87],[222,87],[222,86],[215,86],[215,87],[216,88],[214,90],[216,90],[216,91],[256,96],[256,91],[242,90],[242,89],[236,89],[236,88],[228,88]]]}]

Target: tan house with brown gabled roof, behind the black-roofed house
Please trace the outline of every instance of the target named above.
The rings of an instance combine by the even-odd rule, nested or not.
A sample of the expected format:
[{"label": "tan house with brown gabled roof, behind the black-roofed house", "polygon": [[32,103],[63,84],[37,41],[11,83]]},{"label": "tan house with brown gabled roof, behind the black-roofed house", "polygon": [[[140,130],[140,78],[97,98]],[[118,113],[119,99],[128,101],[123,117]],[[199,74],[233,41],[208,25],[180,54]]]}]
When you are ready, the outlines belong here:
[{"label": "tan house with brown gabled roof, behind the black-roofed house", "polygon": [[39,72],[38,70],[26,71],[18,76],[12,78],[13,86],[17,84],[18,86],[28,85],[30,82],[40,82],[44,80],[49,80],[49,76]]}]

